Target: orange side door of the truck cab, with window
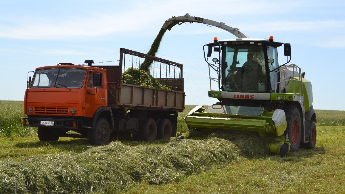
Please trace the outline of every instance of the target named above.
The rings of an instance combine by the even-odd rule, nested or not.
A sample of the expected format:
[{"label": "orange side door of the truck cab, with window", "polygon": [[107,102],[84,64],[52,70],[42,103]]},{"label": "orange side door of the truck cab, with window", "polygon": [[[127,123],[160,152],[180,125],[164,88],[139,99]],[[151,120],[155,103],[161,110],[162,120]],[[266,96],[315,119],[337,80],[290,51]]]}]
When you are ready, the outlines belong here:
[{"label": "orange side door of the truck cab, with window", "polygon": [[106,106],[104,75],[102,72],[89,71],[85,97],[86,117],[92,117],[99,107]]}]

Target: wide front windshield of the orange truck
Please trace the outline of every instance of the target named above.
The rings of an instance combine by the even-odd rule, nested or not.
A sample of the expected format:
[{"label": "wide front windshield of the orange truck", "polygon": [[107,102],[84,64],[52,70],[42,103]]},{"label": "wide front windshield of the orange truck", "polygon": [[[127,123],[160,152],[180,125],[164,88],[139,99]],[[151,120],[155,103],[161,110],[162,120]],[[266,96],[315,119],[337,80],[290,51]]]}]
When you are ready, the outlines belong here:
[{"label": "wide front windshield of the orange truck", "polygon": [[31,88],[81,88],[86,69],[55,68],[37,70]]}]

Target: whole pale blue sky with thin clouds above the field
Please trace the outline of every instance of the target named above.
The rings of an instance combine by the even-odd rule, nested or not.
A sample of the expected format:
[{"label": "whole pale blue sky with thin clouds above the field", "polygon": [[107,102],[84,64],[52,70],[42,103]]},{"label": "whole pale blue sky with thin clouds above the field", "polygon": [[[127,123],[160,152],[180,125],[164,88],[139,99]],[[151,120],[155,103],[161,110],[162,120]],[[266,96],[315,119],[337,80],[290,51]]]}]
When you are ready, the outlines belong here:
[{"label": "whole pale blue sky with thin clouds above the field", "polygon": [[[344,1],[0,0],[0,100],[23,100],[27,72],[59,62],[118,60],[119,48],[146,53],[165,20],[189,13],[239,28],[250,38],[291,43],[315,109],[345,110]],[[156,56],[184,65],[187,105],[209,105],[203,45],[235,38],[200,23],[167,31]],[[279,57],[282,63],[286,58]]]}]

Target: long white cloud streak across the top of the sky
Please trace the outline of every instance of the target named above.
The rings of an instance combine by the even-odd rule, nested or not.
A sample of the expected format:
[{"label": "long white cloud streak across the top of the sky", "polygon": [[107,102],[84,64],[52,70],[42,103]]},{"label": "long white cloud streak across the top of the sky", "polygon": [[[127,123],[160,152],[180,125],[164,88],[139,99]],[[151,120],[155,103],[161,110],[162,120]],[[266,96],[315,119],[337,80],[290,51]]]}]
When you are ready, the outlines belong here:
[{"label": "long white cloud streak across the top of the sky", "polygon": [[[278,3],[274,5],[270,3],[270,5],[281,6]],[[114,4],[112,6],[114,7]],[[216,3],[208,0],[176,0],[168,2],[136,2],[132,7],[121,7],[119,5],[119,7],[114,7],[112,12],[94,10],[94,12],[88,15],[78,14],[78,12],[75,14],[68,13],[70,17],[66,18],[66,15],[63,15],[63,19],[58,14],[40,18],[17,14],[17,16],[13,15],[11,22],[0,23],[0,38],[36,40],[82,39],[118,32],[138,32],[143,29],[147,32],[147,29],[153,26],[159,29],[169,17],[182,16],[187,12],[203,18],[210,17],[209,19],[212,20],[221,17],[223,20],[238,14],[252,15],[258,10],[264,10],[266,6],[267,4],[265,2],[256,1],[247,2],[246,6],[244,6],[243,1],[239,0],[219,0]],[[290,3],[284,6],[288,8],[292,4]],[[212,7],[221,7],[224,8],[224,11],[209,12]],[[108,8],[106,10],[110,9]],[[278,10],[275,9],[273,11],[277,12]],[[156,33],[156,29],[154,31]]]}]

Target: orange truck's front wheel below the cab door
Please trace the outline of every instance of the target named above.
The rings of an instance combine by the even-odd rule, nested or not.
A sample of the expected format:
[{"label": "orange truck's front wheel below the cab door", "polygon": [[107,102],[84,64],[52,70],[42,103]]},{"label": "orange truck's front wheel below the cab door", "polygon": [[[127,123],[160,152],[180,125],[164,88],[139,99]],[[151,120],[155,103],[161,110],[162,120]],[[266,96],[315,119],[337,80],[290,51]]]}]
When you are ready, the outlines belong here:
[{"label": "orange truck's front wheel below the cab door", "polygon": [[88,132],[89,143],[92,145],[104,145],[109,143],[110,127],[105,118],[97,120],[96,127]]}]

